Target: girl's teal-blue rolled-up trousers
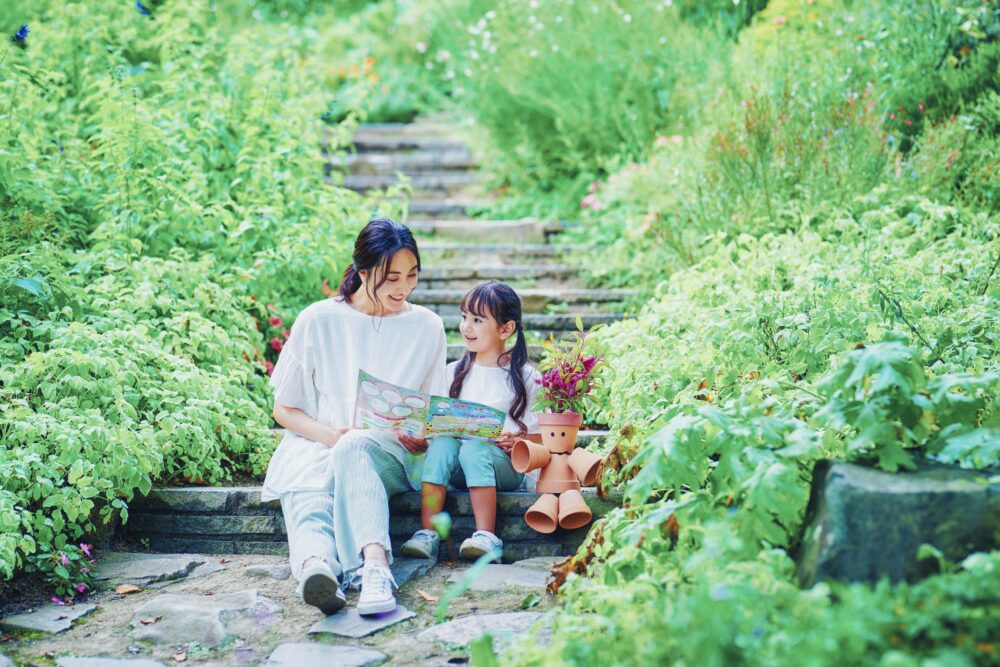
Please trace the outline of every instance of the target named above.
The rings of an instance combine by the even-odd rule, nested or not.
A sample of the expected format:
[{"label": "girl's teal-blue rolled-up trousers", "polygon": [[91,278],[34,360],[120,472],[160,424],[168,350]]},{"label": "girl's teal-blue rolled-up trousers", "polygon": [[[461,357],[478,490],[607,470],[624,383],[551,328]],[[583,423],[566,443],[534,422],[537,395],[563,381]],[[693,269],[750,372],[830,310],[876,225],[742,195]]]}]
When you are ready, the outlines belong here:
[{"label": "girl's teal-blue rolled-up trousers", "polygon": [[495,486],[497,491],[516,491],[524,475],[492,442],[437,436],[427,449],[422,480],[459,489]]}]

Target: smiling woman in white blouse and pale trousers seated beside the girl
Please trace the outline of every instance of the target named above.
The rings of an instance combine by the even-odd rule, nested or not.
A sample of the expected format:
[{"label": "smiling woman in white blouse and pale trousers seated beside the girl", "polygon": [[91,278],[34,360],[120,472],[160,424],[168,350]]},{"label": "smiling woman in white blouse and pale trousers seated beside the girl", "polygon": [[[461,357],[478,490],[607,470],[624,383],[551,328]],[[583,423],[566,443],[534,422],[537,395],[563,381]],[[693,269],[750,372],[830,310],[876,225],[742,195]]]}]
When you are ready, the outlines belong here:
[{"label": "smiling woman in white blouse and pale trousers seated beside the girl", "polygon": [[298,593],[325,614],[344,606],[340,580],[359,568],[358,612],[395,609],[388,498],[413,488],[427,449],[352,428],[358,371],[437,392],[446,359],[441,318],[407,301],[420,272],[410,231],[372,220],[353,259],[339,294],[299,314],[271,376],[274,419],[287,431],[261,494],[280,498]]}]

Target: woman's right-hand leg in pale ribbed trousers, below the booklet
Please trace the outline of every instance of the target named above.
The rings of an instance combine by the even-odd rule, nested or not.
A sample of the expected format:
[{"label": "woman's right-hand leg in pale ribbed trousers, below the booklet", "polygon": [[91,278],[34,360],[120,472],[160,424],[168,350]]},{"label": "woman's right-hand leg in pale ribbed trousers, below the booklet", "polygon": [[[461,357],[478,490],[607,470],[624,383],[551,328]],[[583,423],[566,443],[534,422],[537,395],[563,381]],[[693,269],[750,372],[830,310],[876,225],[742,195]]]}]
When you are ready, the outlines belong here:
[{"label": "woman's right-hand leg in pale ribbed trousers, below the booklet", "polygon": [[350,431],[333,448],[333,469],[333,526],[344,571],[391,562],[389,497],[410,490],[403,464],[377,438]]}]

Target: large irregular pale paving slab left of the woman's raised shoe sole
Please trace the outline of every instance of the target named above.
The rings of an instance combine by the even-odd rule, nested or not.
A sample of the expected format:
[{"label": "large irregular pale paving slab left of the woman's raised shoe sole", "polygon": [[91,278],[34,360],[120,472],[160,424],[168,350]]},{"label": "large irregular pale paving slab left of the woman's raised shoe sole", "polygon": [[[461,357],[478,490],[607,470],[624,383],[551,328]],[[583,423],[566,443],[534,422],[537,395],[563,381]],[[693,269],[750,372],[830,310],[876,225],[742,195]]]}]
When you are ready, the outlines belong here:
[{"label": "large irregular pale paving slab left of the woman's raised shoe sole", "polygon": [[[281,607],[255,590],[222,595],[163,594],[135,610],[131,636],[156,645],[198,642],[215,648],[229,637],[270,627]],[[143,620],[153,619],[149,624]]]}]

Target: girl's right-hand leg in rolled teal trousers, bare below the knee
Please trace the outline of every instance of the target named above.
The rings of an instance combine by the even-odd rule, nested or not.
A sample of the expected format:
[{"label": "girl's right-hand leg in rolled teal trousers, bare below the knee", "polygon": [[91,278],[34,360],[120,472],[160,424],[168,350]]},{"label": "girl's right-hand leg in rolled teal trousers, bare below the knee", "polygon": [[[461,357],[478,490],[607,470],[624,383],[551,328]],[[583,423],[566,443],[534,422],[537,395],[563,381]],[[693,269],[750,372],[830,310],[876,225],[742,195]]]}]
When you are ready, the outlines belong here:
[{"label": "girl's right-hand leg in rolled teal trousers, bare below the knee", "polygon": [[459,450],[459,465],[469,487],[476,530],[496,530],[497,489],[513,491],[524,475],[514,470],[510,457],[491,442],[468,440]]}]

